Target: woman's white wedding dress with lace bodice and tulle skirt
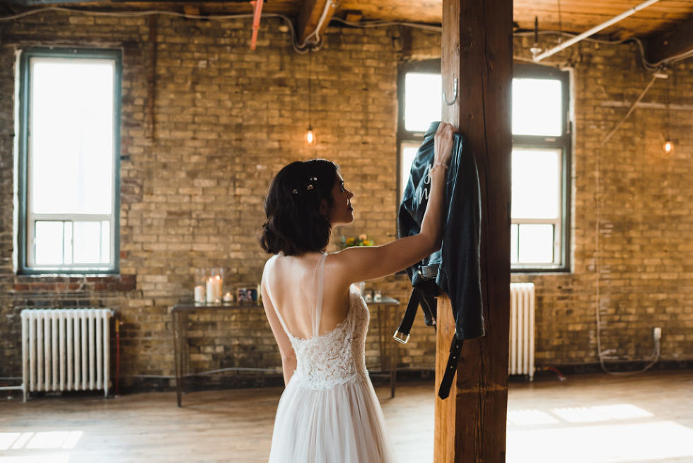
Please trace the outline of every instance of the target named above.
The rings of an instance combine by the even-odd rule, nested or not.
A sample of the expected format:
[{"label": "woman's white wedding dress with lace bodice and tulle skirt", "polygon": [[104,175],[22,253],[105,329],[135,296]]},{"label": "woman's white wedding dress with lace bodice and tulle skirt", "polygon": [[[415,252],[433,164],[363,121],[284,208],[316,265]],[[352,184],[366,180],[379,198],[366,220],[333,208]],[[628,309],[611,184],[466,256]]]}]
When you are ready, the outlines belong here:
[{"label": "woman's white wedding dress with lace bodice and tulle skirt", "polygon": [[[320,257],[316,271],[313,336],[292,336],[276,310],[297,362],[279,399],[269,463],[395,462],[383,411],[366,370],[370,315],[354,285],[349,288],[347,318],[318,335],[326,257]],[[269,296],[272,299],[271,291]]]}]

